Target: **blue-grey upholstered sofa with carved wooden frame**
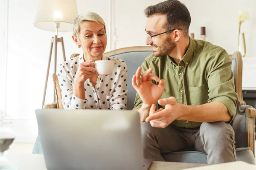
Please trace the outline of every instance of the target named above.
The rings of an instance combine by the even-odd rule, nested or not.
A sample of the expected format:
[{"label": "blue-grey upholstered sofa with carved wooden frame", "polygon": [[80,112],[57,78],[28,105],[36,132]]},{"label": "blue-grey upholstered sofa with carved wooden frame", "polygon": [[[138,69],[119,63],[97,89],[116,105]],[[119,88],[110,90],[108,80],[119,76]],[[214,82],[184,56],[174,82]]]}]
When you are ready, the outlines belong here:
[{"label": "blue-grey upholstered sofa with carved wooden frame", "polygon": [[[134,108],[134,99],[136,91],[131,85],[131,79],[135,74],[137,68],[143,63],[145,58],[151,54],[152,47],[141,46],[141,47],[127,47],[120,48],[105,53],[107,56],[120,58],[125,61],[128,67],[128,100],[127,109],[131,110]],[[76,56],[76,54],[74,54]],[[254,160],[254,118],[256,117],[256,110],[251,106],[245,105],[242,97],[241,81],[242,81],[242,59],[241,53],[235,52],[232,57],[232,71],[235,75],[235,86],[236,93],[238,94],[237,99],[237,112],[236,117],[233,120],[232,126],[235,131],[236,141],[236,155],[238,161],[245,161],[250,164],[255,164]],[[53,77],[56,77],[53,75]],[[55,89],[58,91],[58,78],[53,78],[55,82]],[[59,90],[60,91],[60,90]],[[56,92],[57,94],[58,92]],[[61,97],[57,96],[56,103],[44,105],[43,108],[61,108]],[[40,138],[38,136],[33,153],[42,153],[41,151]],[[166,161],[174,162],[191,162],[191,163],[204,163],[207,164],[207,154],[195,151],[188,152],[175,152],[163,155]]]}]

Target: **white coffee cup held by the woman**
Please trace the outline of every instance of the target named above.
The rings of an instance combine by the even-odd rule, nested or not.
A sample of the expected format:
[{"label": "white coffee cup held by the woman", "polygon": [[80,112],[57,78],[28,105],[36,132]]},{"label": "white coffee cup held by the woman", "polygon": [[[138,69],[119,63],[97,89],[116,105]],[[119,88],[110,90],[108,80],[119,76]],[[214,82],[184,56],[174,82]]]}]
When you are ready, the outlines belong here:
[{"label": "white coffee cup held by the woman", "polygon": [[109,75],[112,73],[115,61],[112,60],[97,60],[94,62],[96,71],[102,75]]}]

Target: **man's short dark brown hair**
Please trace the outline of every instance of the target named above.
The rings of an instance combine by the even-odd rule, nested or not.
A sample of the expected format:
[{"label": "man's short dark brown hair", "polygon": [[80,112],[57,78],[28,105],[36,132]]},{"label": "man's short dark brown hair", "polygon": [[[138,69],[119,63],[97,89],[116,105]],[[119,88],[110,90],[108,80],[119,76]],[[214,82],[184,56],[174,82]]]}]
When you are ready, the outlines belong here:
[{"label": "man's short dark brown hair", "polygon": [[191,17],[188,8],[178,0],[166,0],[145,8],[146,17],[154,14],[166,14],[167,22],[164,26],[168,30],[182,28],[185,36],[189,35]]}]

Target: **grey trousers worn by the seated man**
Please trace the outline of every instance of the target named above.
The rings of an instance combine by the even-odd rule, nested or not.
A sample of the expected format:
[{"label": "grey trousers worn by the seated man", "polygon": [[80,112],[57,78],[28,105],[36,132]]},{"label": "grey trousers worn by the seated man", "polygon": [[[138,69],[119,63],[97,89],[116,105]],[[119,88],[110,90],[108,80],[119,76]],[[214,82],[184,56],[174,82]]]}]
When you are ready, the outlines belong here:
[{"label": "grey trousers worn by the seated man", "polygon": [[167,153],[192,150],[207,153],[208,164],[236,161],[234,130],[223,121],[202,123],[196,128],[157,128],[143,122],[141,134],[144,158],[153,161],[164,161],[161,155]]}]

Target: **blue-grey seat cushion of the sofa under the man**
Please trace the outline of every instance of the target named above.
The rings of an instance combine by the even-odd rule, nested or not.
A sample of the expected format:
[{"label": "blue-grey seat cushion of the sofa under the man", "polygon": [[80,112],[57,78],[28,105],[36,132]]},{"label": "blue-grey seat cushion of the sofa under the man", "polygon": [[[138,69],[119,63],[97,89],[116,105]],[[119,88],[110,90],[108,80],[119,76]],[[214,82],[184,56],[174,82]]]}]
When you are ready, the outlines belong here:
[{"label": "blue-grey seat cushion of the sofa under the man", "polygon": [[[174,152],[163,156],[164,160],[172,162],[186,162],[207,164],[207,154],[202,152]],[[244,161],[249,164],[255,164],[254,156],[250,147],[236,148],[237,161]]]}]

